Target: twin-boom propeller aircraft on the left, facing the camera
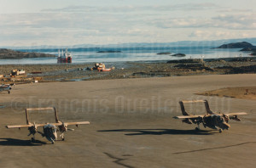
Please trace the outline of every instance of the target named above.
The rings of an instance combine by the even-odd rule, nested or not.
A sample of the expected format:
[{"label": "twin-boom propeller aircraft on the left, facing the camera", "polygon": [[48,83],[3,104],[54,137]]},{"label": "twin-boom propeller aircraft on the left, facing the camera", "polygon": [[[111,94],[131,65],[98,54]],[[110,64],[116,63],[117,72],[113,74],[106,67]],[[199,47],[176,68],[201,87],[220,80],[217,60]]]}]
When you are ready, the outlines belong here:
[{"label": "twin-boom propeller aircraft on the left, facing the camera", "polygon": [[[31,110],[54,110],[55,112],[55,123],[45,123],[45,124],[36,124],[31,123],[28,119],[28,111]],[[32,135],[32,142],[35,142],[35,134],[38,132],[38,127],[43,127],[44,132],[38,132],[43,137],[46,137],[51,143],[55,143],[57,140],[57,132],[61,132],[61,139],[64,141],[64,132],[67,130],[73,131],[73,129],[68,129],[67,126],[79,126],[80,124],[90,124],[89,121],[79,121],[79,122],[63,122],[58,119],[57,109],[55,107],[49,108],[35,108],[35,109],[26,109],[26,125],[15,125],[15,126],[6,126],[7,128],[28,128],[29,134]]]}]

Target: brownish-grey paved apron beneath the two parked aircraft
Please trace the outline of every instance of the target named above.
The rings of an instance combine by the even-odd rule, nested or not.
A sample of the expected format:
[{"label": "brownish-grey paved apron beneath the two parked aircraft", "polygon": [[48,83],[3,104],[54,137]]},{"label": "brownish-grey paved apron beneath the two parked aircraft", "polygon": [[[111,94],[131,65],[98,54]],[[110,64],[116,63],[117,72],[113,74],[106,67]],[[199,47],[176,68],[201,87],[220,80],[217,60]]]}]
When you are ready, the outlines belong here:
[{"label": "brownish-grey paved apron beneath the two parked aircraft", "polygon": [[[255,87],[256,75],[172,76],[137,79],[49,82],[17,85],[0,95],[0,167],[254,167],[255,100],[196,95],[224,87]],[[178,101],[207,99],[212,111],[247,112],[230,120],[230,130],[195,131],[173,116]],[[52,107],[62,121],[89,120],[70,126],[65,141],[36,143],[27,129],[25,109]],[[186,107],[204,114],[200,105]],[[35,112],[36,123],[54,120]],[[61,139],[61,138],[60,138]]]}]

